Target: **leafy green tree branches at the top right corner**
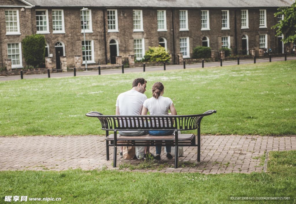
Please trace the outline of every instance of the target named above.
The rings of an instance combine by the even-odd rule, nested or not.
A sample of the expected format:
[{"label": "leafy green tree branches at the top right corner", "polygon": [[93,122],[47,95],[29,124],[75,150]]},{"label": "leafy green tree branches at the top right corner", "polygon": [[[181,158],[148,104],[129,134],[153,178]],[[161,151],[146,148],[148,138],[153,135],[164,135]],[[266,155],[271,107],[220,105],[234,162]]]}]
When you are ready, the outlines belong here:
[{"label": "leafy green tree branches at the top right corner", "polygon": [[284,43],[296,41],[296,2],[291,7],[281,7],[274,14],[284,15],[284,19],[272,28],[276,29],[276,36],[284,34]]}]

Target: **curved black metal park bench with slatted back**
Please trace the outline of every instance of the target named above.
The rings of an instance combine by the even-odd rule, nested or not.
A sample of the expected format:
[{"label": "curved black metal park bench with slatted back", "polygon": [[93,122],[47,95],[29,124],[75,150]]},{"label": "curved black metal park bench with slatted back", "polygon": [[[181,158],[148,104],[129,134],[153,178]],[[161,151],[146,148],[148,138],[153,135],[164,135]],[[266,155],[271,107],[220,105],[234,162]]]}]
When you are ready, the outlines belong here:
[{"label": "curved black metal park bench with slatted back", "polygon": [[[197,161],[200,161],[200,122],[204,116],[213,113],[216,113],[216,110],[210,110],[196,115],[116,116],[103,115],[93,111],[87,113],[86,116],[98,118],[101,122],[102,129],[106,131],[107,161],[109,160],[109,147],[114,147],[113,167],[116,167],[118,146],[175,146],[175,168],[178,168],[178,146],[197,146]],[[197,135],[178,134],[178,131],[194,129],[197,129]],[[174,135],[122,136],[118,133],[118,131],[127,130],[174,130]],[[109,135],[109,131],[113,131],[114,134]],[[196,136],[197,144],[195,140]]]}]

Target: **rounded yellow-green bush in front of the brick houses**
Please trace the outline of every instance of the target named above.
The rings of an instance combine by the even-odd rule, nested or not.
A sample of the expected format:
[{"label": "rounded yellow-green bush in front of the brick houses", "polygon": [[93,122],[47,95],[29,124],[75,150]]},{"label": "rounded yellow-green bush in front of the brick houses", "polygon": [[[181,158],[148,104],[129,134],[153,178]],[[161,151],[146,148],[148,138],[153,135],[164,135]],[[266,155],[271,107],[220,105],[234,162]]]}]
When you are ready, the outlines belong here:
[{"label": "rounded yellow-green bush in front of the brick houses", "polygon": [[145,52],[143,61],[168,62],[170,55],[162,46],[149,47],[149,50]]}]

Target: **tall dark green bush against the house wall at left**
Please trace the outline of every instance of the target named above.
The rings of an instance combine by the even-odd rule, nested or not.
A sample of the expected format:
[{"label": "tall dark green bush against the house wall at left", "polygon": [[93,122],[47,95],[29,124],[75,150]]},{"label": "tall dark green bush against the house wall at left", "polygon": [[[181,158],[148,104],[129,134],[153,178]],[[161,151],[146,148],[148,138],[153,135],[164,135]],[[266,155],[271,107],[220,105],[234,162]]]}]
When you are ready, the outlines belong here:
[{"label": "tall dark green bush against the house wall at left", "polygon": [[22,54],[27,64],[34,68],[44,62],[45,56],[45,38],[44,35],[28,35],[22,40]]}]

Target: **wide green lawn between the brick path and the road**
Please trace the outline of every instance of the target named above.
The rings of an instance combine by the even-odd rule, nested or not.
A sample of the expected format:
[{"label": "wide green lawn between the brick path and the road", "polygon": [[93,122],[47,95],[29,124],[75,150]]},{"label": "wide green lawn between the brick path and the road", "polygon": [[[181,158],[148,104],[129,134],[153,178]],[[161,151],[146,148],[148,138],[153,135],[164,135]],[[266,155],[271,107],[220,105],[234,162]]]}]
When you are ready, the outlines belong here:
[{"label": "wide green lawn between the brick path and the road", "polygon": [[0,135],[102,135],[89,111],[115,114],[118,94],[161,81],[178,114],[216,109],[202,134],[296,134],[296,61],[0,82]]}]

